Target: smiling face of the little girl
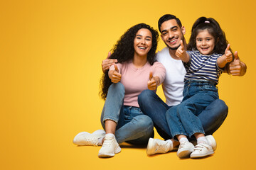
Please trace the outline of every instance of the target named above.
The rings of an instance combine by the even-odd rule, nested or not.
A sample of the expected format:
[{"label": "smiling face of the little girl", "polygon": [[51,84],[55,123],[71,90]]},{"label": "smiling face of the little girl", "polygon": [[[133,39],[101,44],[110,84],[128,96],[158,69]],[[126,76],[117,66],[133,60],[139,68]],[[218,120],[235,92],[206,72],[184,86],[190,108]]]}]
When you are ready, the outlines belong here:
[{"label": "smiling face of the little girl", "polygon": [[211,55],[215,46],[215,39],[208,30],[199,30],[196,35],[196,48],[202,55]]}]

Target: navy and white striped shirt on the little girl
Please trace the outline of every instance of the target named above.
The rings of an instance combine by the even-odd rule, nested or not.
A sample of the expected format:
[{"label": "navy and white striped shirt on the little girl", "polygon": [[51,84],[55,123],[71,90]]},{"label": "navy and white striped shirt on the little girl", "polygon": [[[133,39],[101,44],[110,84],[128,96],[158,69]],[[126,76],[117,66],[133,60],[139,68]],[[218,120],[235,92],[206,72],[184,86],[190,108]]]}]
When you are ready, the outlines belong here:
[{"label": "navy and white striped shirt on the little girl", "polygon": [[187,51],[190,60],[183,63],[186,69],[186,80],[203,80],[213,81],[218,84],[218,79],[223,69],[220,69],[217,64],[218,57],[221,54],[213,53],[213,55],[201,55],[199,51]]}]

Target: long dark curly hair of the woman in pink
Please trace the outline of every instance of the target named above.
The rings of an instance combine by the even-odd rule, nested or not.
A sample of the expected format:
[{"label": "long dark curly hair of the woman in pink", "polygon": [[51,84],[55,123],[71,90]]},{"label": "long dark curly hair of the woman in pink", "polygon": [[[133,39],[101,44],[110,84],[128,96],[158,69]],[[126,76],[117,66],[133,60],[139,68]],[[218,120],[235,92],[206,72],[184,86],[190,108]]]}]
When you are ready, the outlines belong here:
[{"label": "long dark curly hair of the woman in pink", "polygon": [[[147,61],[149,62],[149,64],[153,65],[154,62],[156,62],[156,47],[159,40],[159,33],[157,32],[157,30],[154,30],[154,28],[146,25],[145,23],[139,23],[132,28],[129,28],[124,33],[124,35],[121,36],[121,38],[117,41],[117,43],[111,50],[112,55],[110,56],[110,59],[117,59],[119,63],[132,60],[134,57],[134,38],[138,30],[142,28],[150,30],[152,34],[152,47],[147,54]],[[111,84],[111,79],[108,77],[108,70],[106,70],[105,73],[102,75],[102,79],[100,80],[100,85],[102,89],[100,91],[101,98],[106,99],[107,91]]]}]

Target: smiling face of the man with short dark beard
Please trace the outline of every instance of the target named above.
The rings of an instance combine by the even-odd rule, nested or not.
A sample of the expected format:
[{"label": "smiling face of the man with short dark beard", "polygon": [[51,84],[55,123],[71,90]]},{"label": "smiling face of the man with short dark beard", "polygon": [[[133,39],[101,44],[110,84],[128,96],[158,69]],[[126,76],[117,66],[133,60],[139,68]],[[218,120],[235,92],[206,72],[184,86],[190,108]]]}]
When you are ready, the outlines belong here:
[{"label": "smiling face of the man with short dark beard", "polygon": [[164,41],[167,47],[171,50],[177,50],[181,45],[181,40],[184,39],[185,28],[178,26],[175,19],[164,21],[160,27],[161,39]]}]

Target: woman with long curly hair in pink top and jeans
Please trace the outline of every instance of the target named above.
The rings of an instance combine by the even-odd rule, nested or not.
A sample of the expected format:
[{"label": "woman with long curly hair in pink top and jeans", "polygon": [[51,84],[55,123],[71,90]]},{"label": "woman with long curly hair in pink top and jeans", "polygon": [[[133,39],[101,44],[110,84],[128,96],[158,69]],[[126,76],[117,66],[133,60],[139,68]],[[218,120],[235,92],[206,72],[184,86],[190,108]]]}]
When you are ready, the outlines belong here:
[{"label": "woman with long curly hair in pink top and jeans", "polygon": [[166,70],[155,62],[158,33],[140,23],[129,28],[112,50],[117,64],[102,77],[102,98],[106,99],[101,122],[104,130],[80,132],[75,145],[102,145],[99,157],[113,157],[121,151],[118,143],[146,144],[153,135],[151,119],[139,109],[137,98],[144,89],[156,91]]}]

